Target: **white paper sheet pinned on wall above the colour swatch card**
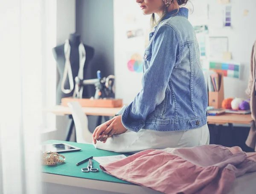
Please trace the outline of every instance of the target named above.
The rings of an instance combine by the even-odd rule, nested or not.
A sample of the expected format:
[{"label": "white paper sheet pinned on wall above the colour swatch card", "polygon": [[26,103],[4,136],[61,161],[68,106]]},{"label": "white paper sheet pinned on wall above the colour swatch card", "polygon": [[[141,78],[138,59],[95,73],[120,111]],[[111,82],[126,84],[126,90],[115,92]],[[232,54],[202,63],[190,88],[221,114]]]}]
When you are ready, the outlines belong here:
[{"label": "white paper sheet pinned on wall above the colour swatch card", "polygon": [[228,37],[209,37],[210,57],[221,60],[228,52]]}]

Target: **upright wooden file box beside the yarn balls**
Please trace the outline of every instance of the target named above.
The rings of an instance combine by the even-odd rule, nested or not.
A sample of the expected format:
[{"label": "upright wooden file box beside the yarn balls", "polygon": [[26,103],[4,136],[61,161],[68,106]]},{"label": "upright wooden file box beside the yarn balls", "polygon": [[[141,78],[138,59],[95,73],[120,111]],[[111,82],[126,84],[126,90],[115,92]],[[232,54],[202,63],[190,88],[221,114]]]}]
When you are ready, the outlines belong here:
[{"label": "upright wooden file box beside the yarn balls", "polygon": [[223,86],[223,74],[219,71],[216,71],[219,75],[220,87],[219,91],[209,91],[208,100],[209,106],[214,108],[221,108],[222,101],[224,100],[224,86]]}]

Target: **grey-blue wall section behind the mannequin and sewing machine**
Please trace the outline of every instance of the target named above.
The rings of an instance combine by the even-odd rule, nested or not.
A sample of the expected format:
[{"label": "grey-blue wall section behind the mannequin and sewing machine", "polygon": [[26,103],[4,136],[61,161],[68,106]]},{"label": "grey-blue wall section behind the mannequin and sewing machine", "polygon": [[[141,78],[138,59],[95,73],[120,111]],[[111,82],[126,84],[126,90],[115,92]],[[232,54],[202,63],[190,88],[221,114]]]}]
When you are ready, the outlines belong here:
[{"label": "grey-blue wall section behind the mannequin and sewing machine", "polygon": [[[113,0],[76,0],[76,32],[84,44],[95,49],[85,79],[114,74]],[[94,86],[88,87],[88,97],[94,96]],[[89,129],[94,131],[98,117],[89,116]]]}]

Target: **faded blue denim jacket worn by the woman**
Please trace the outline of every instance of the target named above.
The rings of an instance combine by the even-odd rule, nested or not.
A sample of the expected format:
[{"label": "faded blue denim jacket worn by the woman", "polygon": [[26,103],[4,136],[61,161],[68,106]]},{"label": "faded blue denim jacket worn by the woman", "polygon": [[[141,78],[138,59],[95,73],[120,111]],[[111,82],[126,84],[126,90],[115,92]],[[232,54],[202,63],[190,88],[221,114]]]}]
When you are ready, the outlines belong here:
[{"label": "faded blue denim jacket worn by the woman", "polygon": [[173,10],[149,35],[142,90],[123,108],[122,124],[131,131],[180,131],[207,123],[207,86],[188,9]]}]

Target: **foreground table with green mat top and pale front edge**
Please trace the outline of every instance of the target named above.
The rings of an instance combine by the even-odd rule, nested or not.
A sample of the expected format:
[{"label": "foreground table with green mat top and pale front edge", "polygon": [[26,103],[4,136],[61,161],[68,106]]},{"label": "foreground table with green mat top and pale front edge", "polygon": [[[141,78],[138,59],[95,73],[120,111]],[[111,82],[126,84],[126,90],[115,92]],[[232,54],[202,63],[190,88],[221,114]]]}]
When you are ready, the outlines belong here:
[{"label": "foreground table with green mat top and pale front edge", "polygon": [[[45,143],[61,142],[63,141],[49,140]],[[86,163],[80,166],[76,166],[75,163],[91,156],[92,153],[95,157],[117,155],[118,153],[95,149],[90,144],[66,143],[82,149],[81,151],[63,153],[66,157],[65,163],[49,167],[42,166],[43,194],[160,194],[150,188],[118,180],[101,170],[97,174],[82,173],[80,169],[86,166]],[[93,161],[93,166],[99,168],[99,163]],[[255,194],[255,177],[256,172],[238,177],[228,194]]]}]

